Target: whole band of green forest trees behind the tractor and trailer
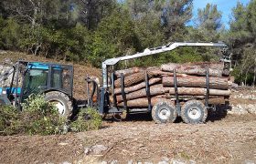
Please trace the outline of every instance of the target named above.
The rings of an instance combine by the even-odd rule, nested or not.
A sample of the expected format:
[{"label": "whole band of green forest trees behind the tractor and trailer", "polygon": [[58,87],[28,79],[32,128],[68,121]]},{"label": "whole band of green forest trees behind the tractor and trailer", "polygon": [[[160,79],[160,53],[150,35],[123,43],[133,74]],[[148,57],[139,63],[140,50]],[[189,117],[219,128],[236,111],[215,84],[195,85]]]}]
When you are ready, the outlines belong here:
[{"label": "whole band of green forest trees behind the tractor and trailer", "polygon": [[[194,26],[189,26],[192,9],[193,0],[2,0],[0,48],[101,67],[107,58],[169,42],[224,40],[232,46],[234,66],[240,69],[236,77],[245,74],[240,83],[253,74],[254,84],[256,64],[247,61],[255,50],[256,0],[248,5],[238,2],[226,29],[221,12],[212,4],[199,9]],[[184,48],[119,67],[211,61],[217,60],[216,54],[206,47]]]}]

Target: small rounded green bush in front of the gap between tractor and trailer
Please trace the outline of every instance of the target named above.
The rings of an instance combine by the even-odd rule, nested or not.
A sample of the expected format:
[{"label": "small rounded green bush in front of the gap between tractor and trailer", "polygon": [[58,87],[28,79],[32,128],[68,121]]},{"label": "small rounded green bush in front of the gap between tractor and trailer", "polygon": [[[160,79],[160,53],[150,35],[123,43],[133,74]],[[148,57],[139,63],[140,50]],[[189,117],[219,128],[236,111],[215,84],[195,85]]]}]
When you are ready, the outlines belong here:
[{"label": "small rounded green bush in front of the gap between tractor and trailer", "polygon": [[80,132],[101,127],[101,115],[94,108],[83,108],[80,110],[76,120],[70,123],[71,131]]}]

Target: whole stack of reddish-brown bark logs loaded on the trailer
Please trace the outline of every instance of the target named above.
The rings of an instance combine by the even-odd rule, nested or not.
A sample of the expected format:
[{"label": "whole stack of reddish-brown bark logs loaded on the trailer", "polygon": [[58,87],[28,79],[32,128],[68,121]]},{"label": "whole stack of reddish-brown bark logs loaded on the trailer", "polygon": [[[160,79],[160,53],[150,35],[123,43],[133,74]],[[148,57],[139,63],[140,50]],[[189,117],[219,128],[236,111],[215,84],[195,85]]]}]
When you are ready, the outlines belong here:
[{"label": "whole stack of reddish-brown bark logs loaded on the trailer", "polygon": [[[150,101],[154,106],[159,100],[175,100],[175,77],[178,97],[181,100],[192,98],[204,99],[207,95],[207,68],[209,101],[219,101],[229,97],[229,87],[233,84],[233,78],[229,77],[229,70],[224,68],[223,63],[169,63],[161,67],[139,68],[119,70],[114,73],[114,95],[116,105],[123,107],[122,96],[122,74],[123,87],[127,107],[143,108],[148,107],[146,94],[145,75],[148,77],[150,90]],[[113,99],[112,99],[113,102]]]}]

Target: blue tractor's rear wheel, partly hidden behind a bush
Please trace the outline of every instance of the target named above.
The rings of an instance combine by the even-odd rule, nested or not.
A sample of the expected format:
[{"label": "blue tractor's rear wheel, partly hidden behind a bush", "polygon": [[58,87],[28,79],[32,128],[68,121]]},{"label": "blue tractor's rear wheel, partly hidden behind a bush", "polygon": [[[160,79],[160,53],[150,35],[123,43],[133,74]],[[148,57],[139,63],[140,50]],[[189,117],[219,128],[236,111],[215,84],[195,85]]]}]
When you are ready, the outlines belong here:
[{"label": "blue tractor's rear wheel, partly hidden behind a bush", "polygon": [[59,115],[65,118],[70,118],[72,116],[72,101],[66,94],[58,91],[51,91],[46,93],[45,99],[58,108]]}]

